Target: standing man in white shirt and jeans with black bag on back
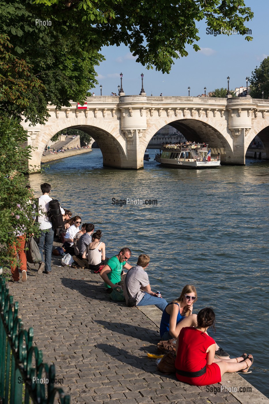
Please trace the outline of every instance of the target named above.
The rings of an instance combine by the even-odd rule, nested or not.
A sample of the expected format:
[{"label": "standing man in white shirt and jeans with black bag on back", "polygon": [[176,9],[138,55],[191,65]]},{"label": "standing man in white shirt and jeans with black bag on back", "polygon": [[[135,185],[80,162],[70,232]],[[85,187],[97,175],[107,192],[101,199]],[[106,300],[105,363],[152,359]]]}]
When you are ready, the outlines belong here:
[{"label": "standing man in white shirt and jeans with black bag on back", "polygon": [[[42,196],[38,198],[38,223],[40,225],[40,238],[38,242],[38,248],[42,257],[42,262],[39,264],[38,275],[41,274],[45,269],[45,274],[50,274],[51,272],[51,252],[53,249],[53,237],[54,229],[53,225],[48,218],[47,212],[49,210],[49,202],[52,200],[48,194],[50,193],[50,184],[44,182],[40,185]],[[64,215],[65,211],[61,208],[61,214]],[[45,261],[43,257],[43,247],[45,251]]]}]

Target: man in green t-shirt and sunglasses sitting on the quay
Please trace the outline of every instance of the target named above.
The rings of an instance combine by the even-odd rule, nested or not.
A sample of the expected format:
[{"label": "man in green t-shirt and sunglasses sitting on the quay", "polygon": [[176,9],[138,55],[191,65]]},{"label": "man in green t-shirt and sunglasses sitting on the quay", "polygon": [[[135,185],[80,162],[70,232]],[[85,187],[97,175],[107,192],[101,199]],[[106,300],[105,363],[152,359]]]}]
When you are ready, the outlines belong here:
[{"label": "man in green t-shirt and sunglasses sitting on the quay", "polygon": [[107,265],[105,265],[101,270],[100,276],[105,282],[105,288],[107,289],[108,293],[112,292],[113,288],[116,288],[116,284],[120,282],[122,268],[132,268],[132,265],[127,263],[127,260],[130,258],[131,254],[130,248],[122,248],[118,255],[114,255],[114,257],[110,258],[107,261]]}]

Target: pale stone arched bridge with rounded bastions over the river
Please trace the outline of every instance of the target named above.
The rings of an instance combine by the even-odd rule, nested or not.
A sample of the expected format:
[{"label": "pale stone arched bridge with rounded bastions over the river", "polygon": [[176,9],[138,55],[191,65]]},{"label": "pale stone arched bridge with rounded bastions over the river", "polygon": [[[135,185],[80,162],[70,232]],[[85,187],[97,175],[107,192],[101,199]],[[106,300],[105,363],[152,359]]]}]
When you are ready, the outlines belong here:
[{"label": "pale stone arched bridge with rounded bastions over the river", "polygon": [[143,168],[150,139],[166,124],[179,129],[186,139],[206,142],[212,155],[221,154],[222,164],[245,164],[248,145],[256,135],[269,158],[269,100],[200,97],[146,97],[121,95],[86,99],[85,109],[48,105],[45,125],[23,127],[28,144],[35,147],[29,168],[38,171],[42,151],[58,131],[76,127],[97,141],[103,165]]}]

